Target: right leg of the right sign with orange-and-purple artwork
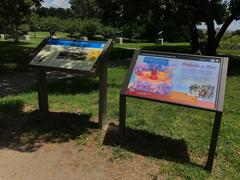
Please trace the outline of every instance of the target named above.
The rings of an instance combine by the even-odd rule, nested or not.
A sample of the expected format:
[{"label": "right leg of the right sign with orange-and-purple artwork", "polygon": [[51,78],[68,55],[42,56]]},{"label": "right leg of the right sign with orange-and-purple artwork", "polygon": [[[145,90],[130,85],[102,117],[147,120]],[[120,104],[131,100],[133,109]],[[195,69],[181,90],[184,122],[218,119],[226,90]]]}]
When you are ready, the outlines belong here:
[{"label": "right leg of the right sign with orange-and-purple artwork", "polygon": [[212,171],[213,168],[213,162],[214,162],[214,156],[216,152],[217,147],[217,141],[218,141],[218,134],[221,126],[221,120],[222,120],[222,112],[216,112],[213,129],[212,129],[212,137],[210,142],[210,148],[208,152],[208,160],[205,166],[206,170]]}]

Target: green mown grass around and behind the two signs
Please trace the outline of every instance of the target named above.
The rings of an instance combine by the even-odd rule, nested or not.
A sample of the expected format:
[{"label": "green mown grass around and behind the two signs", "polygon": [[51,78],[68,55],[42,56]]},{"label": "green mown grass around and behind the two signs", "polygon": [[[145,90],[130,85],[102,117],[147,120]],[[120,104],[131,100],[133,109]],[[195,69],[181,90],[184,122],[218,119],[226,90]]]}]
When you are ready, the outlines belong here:
[{"label": "green mown grass around and behind the two signs", "polygon": [[[27,54],[40,39],[30,44],[19,45]],[[12,53],[12,48],[6,42],[1,42],[1,52],[10,62],[20,57]],[[167,44],[174,52],[188,44]],[[24,48],[23,48],[24,47]],[[29,47],[29,49],[27,48]],[[155,47],[155,44],[123,44],[116,45],[111,55],[111,61],[119,56],[131,58],[132,50],[127,48]],[[157,45],[157,48],[163,46]],[[16,52],[16,50],[14,51]],[[15,57],[9,56],[9,54]],[[1,53],[2,54],[2,53]],[[8,54],[8,56],[6,55]],[[119,56],[118,56],[119,55]],[[4,55],[3,55],[4,56]],[[2,58],[2,57],[1,57]],[[1,59],[2,60],[2,59]],[[22,59],[24,61],[24,59]],[[22,62],[21,62],[22,63]],[[108,121],[118,121],[118,97],[128,67],[109,68],[108,76]],[[214,114],[202,110],[153,103],[144,100],[127,99],[127,146],[123,151],[138,153],[149,161],[159,165],[159,171],[154,177],[169,179],[239,179],[240,175],[240,61],[230,62],[225,95],[224,114],[220,130],[219,143],[213,173],[204,171],[201,167],[206,162],[208,145]],[[90,114],[91,119],[98,115],[98,80],[88,77],[74,77],[48,84],[50,110],[68,113]],[[29,111],[23,111],[29,107]],[[0,99],[0,119],[20,118],[28,116],[37,109],[37,93],[35,89],[25,93],[7,96]],[[28,128],[35,134],[42,132],[41,125]],[[71,137],[74,132],[57,131],[56,136]],[[79,139],[79,137],[75,137]]]}]

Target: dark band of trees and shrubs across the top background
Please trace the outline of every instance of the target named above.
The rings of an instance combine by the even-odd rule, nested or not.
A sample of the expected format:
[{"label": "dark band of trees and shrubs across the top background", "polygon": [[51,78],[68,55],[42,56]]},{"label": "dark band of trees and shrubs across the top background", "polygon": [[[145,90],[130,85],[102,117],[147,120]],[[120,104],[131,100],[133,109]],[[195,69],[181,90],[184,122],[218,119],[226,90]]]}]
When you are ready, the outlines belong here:
[{"label": "dark band of trees and shrubs across the top background", "polygon": [[[161,36],[168,41],[191,40],[195,52],[202,48],[197,25],[204,22],[207,41],[203,53],[212,55],[229,25],[240,19],[240,0],[70,0],[69,9],[40,7],[41,1],[1,0],[0,30],[8,28],[17,39],[28,23],[32,31],[56,29],[71,35],[81,31],[92,36],[99,32],[96,25],[104,24],[107,28],[102,33],[116,34],[119,29],[129,39],[154,41],[163,32]],[[80,21],[82,30],[77,25]],[[222,24],[219,31],[215,23]]]}]

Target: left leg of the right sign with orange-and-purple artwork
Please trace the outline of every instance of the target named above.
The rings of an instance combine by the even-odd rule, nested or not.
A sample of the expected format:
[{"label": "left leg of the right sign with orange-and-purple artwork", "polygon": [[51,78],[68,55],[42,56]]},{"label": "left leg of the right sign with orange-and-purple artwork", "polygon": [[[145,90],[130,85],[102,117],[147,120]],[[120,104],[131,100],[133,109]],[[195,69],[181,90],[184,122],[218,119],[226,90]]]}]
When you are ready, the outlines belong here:
[{"label": "left leg of the right sign with orange-and-purple artwork", "polygon": [[119,100],[119,134],[120,143],[125,143],[125,129],[126,129],[126,96],[120,95]]}]

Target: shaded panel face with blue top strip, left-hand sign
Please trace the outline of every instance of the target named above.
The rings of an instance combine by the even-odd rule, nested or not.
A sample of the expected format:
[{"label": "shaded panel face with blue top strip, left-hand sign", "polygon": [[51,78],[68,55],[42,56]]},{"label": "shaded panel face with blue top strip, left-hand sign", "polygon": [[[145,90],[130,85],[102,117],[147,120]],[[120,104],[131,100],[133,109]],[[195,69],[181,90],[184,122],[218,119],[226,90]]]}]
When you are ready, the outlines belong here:
[{"label": "shaded panel face with blue top strip, left-hand sign", "polygon": [[104,42],[49,39],[30,65],[90,71],[105,45]]}]

